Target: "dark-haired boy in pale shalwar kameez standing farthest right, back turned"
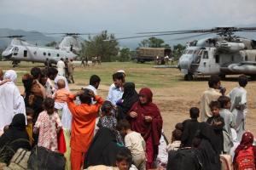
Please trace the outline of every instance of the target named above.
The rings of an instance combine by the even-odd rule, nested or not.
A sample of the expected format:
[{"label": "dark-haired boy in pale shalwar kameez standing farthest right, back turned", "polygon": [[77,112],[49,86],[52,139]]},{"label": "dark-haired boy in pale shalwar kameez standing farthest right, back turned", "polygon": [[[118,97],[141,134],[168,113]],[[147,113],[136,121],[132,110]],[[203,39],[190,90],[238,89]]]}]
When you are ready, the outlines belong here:
[{"label": "dark-haired boy in pale shalwar kameez standing farthest right, back turned", "polygon": [[245,120],[247,114],[247,77],[241,75],[238,78],[239,87],[233,88],[228,94],[231,99],[230,111],[236,119],[236,133],[238,141],[241,141],[242,133],[245,131]]}]

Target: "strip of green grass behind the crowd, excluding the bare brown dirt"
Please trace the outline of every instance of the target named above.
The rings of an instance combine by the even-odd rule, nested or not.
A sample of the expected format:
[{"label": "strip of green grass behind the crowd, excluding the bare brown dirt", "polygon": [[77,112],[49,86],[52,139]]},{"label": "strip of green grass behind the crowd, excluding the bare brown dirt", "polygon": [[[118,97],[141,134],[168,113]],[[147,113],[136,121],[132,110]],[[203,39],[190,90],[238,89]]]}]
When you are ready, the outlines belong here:
[{"label": "strip of green grass behind the crowd, excluding the bare brown dirt", "polygon": [[[22,86],[21,77],[25,72],[29,72],[33,66],[40,66],[44,68],[42,64],[32,64],[27,62],[21,62],[16,68],[12,68],[10,62],[1,61],[0,68],[3,70],[14,69],[18,71],[18,86]],[[183,82],[182,75],[177,69],[155,69],[153,63],[137,64],[133,62],[107,62],[102,65],[95,65],[90,67],[80,67],[77,65],[74,71],[74,80],[77,85],[83,87],[88,84],[90,76],[93,74],[98,75],[102,79],[102,84],[109,85],[113,83],[112,75],[115,71],[125,70],[126,82],[135,82],[137,88],[149,87],[149,88],[165,88],[177,86],[178,83]]]}]

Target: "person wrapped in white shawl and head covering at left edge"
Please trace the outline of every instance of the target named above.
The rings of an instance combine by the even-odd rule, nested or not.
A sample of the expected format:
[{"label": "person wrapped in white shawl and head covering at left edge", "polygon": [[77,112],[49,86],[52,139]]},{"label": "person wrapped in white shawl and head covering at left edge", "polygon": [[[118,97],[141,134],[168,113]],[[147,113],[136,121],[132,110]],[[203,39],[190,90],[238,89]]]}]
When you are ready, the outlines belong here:
[{"label": "person wrapped in white shawl and head covering at left edge", "polygon": [[15,114],[23,113],[26,116],[25,102],[15,85],[17,74],[13,70],[6,71],[3,80],[10,80],[0,86],[0,131],[12,122]]}]

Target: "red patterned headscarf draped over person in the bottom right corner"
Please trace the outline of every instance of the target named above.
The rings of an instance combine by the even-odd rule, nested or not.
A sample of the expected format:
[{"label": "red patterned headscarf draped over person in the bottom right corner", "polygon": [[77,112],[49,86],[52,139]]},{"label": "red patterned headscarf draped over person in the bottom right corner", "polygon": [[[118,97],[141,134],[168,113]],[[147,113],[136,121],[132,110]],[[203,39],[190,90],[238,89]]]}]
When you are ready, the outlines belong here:
[{"label": "red patterned headscarf draped over person in the bottom right corner", "polygon": [[241,150],[247,150],[250,147],[252,147],[252,150],[253,150],[254,166],[255,166],[255,162],[256,162],[256,146],[253,146],[253,139],[254,139],[253,138],[253,133],[246,132],[246,133],[242,134],[241,142],[240,142],[240,144],[237,146],[237,148],[235,150],[235,156],[234,156],[234,159],[233,159],[235,167],[237,167],[236,158],[237,158],[239,152]]}]

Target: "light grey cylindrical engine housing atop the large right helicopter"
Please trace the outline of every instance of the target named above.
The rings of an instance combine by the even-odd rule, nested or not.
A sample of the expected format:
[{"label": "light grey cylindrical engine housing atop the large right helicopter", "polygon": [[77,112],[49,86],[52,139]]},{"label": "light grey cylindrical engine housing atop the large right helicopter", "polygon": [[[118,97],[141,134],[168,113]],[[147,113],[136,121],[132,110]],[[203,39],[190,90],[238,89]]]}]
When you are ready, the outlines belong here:
[{"label": "light grey cylindrical engine housing atop the large right helicopter", "polygon": [[243,42],[217,42],[216,47],[220,51],[236,53],[245,48]]}]

